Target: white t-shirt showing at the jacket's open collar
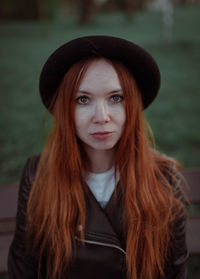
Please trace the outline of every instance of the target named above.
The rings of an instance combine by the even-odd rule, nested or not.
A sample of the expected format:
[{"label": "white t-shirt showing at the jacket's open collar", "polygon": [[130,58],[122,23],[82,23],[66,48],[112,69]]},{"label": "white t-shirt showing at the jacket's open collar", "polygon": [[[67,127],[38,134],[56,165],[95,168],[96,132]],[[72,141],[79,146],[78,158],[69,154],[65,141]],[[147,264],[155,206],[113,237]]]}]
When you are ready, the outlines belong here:
[{"label": "white t-shirt showing at the jacket's open collar", "polygon": [[87,185],[103,208],[108,203],[116,184],[119,182],[119,173],[117,172],[115,184],[114,172],[115,169],[112,167],[106,172],[89,173],[86,178]]}]

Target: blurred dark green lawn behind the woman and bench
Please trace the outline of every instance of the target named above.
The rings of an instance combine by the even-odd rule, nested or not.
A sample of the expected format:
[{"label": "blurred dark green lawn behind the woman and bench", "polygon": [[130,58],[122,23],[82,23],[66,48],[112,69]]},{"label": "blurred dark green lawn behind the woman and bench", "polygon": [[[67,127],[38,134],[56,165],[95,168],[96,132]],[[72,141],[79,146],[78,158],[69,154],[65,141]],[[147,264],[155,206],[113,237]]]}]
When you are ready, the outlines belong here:
[{"label": "blurred dark green lawn behind the woman and bench", "polygon": [[131,22],[120,13],[98,15],[91,25],[75,17],[54,22],[1,22],[0,185],[16,183],[27,157],[40,153],[43,108],[38,91],[40,70],[53,50],[77,36],[114,35],[132,40],[158,61],[162,86],[145,112],[158,148],[185,167],[200,167],[199,6],[175,10],[171,43],[162,40],[160,14],[138,12]]}]

